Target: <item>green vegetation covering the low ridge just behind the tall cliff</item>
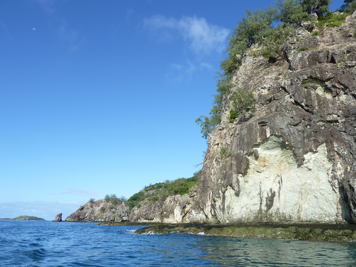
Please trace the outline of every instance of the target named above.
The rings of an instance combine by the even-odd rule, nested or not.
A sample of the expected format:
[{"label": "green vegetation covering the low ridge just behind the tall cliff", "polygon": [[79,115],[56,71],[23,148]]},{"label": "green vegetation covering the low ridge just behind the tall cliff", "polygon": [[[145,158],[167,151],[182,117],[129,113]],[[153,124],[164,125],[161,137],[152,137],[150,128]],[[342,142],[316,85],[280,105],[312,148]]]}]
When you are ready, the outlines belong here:
[{"label": "green vegetation covering the low ridge just behind the tall cliff", "polygon": [[147,200],[147,203],[156,203],[159,199],[166,199],[170,195],[184,195],[189,193],[189,189],[198,185],[200,172],[195,172],[193,177],[178,178],[176,180],[166,180],[163,183],[150,184],[145,186],[140,192],[133,194],[128,200],[130,210],[139,205],[141,201]]}]

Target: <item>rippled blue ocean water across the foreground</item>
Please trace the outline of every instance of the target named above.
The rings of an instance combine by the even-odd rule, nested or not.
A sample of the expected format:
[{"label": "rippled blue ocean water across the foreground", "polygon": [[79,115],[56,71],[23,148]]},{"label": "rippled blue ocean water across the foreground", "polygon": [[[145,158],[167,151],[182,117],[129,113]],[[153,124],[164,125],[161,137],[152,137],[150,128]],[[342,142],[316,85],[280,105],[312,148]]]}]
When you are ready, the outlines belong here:
[{"label": "rippled blue ocean water across the foreground", "polygon": [[0,221],[0,266],[356,266],[356,243],[193,234],[142,226]]}]

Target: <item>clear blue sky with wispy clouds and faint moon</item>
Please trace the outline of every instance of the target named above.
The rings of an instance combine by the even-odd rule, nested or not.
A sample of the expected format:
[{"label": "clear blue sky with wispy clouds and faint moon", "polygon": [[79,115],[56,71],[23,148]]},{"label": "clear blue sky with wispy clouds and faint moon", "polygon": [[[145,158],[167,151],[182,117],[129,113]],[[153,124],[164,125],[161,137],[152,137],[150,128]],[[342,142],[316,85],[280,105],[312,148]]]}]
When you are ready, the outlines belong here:
[{"label": "clear blue sky with wispy clouds and faint moon", "polygon": [[231,31],[271,4],[0,1],[0,218],[191,177]]}]

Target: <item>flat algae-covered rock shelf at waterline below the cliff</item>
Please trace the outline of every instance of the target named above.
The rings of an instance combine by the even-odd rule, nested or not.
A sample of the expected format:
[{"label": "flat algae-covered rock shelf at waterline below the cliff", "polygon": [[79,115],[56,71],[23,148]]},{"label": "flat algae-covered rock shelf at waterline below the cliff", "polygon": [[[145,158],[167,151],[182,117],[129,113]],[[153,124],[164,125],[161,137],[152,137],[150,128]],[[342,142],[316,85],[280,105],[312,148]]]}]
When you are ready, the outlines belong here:
[{"label": "flat algae-covered rock shelf at waterline below the cliff", "polygon": [[232,237],[267,237],[312,241],[356,241],[356,225],[156,225],[135,234],[204,233]]}]

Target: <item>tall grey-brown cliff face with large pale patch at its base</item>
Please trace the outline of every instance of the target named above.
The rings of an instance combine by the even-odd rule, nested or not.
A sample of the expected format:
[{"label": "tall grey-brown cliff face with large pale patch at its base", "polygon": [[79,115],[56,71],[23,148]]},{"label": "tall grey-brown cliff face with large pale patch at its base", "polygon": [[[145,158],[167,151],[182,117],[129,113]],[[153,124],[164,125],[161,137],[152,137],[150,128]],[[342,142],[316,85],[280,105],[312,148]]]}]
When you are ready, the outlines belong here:
[{"label": "tall grey-brown cliff face with large pale patch at its base", "polygon": [[229,124],[226,99],[185,221],[356,223],[355,27],[356,12],[323,35],[299,29],[285,61],[244,57],[234,82],[257,110]]}]

